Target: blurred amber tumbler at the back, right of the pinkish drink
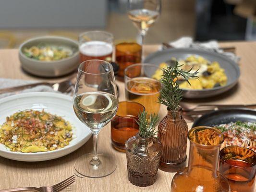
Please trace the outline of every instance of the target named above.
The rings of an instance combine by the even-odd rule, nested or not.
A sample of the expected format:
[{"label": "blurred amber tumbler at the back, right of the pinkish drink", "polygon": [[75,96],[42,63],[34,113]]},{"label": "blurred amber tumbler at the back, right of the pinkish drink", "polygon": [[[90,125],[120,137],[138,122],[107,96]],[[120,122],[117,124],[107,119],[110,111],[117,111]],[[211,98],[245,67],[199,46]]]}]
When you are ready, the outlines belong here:
[{"label": "blurred amber tumbler at the back, right of the pinkish drink", "polygon": [[116,45],[116,63],[119,65],[118,76],[124,76],[126,67],[141,62],[142,48],[135,42],[124,41]]}]

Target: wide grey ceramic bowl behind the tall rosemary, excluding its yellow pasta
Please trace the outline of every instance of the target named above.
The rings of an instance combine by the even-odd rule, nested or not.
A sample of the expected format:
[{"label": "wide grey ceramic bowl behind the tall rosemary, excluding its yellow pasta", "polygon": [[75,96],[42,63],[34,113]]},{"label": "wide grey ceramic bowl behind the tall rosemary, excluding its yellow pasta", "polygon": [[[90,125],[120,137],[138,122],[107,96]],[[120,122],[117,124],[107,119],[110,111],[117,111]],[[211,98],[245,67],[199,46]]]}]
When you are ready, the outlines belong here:
[{"label": "wide grey ceramic bowl behind the tall rosemary, excluding its yellow pasta", "polygon": [[183,89],[184,98],[206,98],[217,96],[230,90],[237,82],[240,76],[240,68],[237,63],[229,58],[215,52],[198,50],[193,48],[170,48],[161,51],[157,51],[148,55],[144,63],[152,63],[158,65],[167,60],[171,60],[172,57],[179,59],[186,59],[188,56],[202,56],[209,61],[218,61],[221,68],[223,68],[228,77],[228,82],[225,86],[214,87],[212,89],[192,90]]}]

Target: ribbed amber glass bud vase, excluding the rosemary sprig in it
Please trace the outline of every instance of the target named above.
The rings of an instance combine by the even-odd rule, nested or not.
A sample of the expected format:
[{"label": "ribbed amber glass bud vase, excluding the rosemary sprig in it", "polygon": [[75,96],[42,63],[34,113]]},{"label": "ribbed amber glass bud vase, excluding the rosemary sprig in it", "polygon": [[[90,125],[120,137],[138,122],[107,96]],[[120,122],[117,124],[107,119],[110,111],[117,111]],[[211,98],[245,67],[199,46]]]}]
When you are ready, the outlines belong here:
[{"label": "ribbed amber glass bud vase, excluding the rosemary sprig in it", "polygon": [[158,138],[163,145],[159,169],[163,171],[177,172],[186,167],[188,126],[181,112],[181,108],[168,109],[158,125]]}]

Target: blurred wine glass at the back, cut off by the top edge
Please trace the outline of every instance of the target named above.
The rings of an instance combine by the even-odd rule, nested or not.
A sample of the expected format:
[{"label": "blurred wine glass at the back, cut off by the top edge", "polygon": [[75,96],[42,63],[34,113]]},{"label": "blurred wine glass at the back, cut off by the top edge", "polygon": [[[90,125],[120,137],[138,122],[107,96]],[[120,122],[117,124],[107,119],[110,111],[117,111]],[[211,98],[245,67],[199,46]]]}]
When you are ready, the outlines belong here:
[{"label": "blurred wine glass at the back, cut off by the top edge", "polygon": [[138,28],[141,45],[148,28],[156,22],[161,12],[161,0],[128,0],[128,17]]}]

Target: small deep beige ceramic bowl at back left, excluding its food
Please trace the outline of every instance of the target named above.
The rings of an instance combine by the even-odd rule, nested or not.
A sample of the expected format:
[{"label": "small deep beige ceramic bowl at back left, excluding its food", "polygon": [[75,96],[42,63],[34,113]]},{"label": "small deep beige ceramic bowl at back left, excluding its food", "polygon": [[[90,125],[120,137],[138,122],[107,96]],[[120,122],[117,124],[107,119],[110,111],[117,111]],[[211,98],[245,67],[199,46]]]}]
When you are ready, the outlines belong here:
[{"label": "small deep beige ceramic bowl at back left, excluding its food", "polygon": [[[40,61],[29,58],[24,54],[24,48],[31,48],[45,44],[49,46],[67,47],[73,50],[73,54],[65,59],[54,61]],[[42,77],[57,77],[77,70],[79,65],[78,42],[61,36],[41,36],[31,38],[21,44],[19,59],[24,71]]]}]

